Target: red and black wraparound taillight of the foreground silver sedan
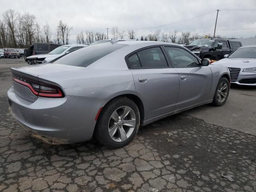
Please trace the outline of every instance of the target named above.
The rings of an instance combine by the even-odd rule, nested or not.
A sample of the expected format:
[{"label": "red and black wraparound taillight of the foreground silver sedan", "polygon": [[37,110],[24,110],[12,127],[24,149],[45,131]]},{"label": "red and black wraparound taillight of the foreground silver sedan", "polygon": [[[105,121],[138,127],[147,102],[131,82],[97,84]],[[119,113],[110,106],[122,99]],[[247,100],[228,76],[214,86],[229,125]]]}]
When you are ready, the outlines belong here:
[{"label": "red and black wraparound taillight of the foreground silver sedan", "polygon": [[48,97],[48,98],[62,98],[64,97],[63,92],[60,88],[58,88],[55,85],[47,84],[44,82],[25,82],[22,80],[19,80],[17,78],[12,78],[15,82],[22,84],[26,87],[28,87],[32,93],[36,96],[40,97]]}]

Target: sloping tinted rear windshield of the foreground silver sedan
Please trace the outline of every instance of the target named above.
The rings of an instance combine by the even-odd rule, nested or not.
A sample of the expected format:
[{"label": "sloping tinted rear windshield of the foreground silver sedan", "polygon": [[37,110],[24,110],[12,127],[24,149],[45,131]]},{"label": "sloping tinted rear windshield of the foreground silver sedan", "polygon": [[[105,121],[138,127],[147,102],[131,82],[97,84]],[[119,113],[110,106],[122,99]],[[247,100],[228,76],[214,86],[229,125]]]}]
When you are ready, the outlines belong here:
[{"label": "sloping tinted rear windshield of the foreground silver sedan", "polygon": [[94,63],[95,61],[106,56],[107,54],[110,54],[124,46],[126,45],[111,43],[102,43],[94,46],[88,46],[82,49],[78,49],[74,52],[70,52],[63,57],[54,60],[53,63],[87,67],[88,65]]}]

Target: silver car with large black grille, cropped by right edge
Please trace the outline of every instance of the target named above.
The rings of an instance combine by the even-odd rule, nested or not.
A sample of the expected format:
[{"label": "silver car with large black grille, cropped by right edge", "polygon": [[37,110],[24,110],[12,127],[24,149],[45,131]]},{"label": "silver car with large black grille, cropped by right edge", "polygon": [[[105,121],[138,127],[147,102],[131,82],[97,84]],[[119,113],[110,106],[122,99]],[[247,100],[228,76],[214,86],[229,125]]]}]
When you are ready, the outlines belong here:
[{"label": "silver car with large black grille, cropped by right edge", "polygon": [[231,83],[256,86],[256,45],[242,46],[213,64],[227,66]]}]

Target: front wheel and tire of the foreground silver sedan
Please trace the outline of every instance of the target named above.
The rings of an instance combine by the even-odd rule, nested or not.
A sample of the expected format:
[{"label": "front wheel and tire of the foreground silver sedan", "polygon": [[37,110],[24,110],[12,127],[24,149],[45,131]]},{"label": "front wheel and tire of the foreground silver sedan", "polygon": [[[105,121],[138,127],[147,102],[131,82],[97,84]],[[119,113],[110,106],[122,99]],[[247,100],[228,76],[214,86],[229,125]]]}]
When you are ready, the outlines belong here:
[{"label": "front wheel and tire of the foreground silver sedan", "polygon": [[228,99],[228,94],[230,90],[230,83],[226,77],[220,78],[212,104],[214,106],[222,106],[226,103]]}]

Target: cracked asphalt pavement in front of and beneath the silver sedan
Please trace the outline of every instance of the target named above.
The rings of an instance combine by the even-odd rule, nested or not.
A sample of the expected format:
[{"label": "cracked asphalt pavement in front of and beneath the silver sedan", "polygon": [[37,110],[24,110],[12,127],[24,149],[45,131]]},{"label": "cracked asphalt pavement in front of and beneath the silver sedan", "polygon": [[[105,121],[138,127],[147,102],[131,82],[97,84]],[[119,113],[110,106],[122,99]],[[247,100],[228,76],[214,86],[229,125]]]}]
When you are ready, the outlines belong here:
[{"label": "cracked asphalt pavement in front of and beneath the silver sedan", "polygon": [[[11,85],[11,74],[2,66],[3,92]],[[178,114],[140,127],[136,138],[120,149],[108,149],[94,139],[49,145],[16,123],[2,92],[0,191],[256,191],[256,136],[252,134]]]}]

